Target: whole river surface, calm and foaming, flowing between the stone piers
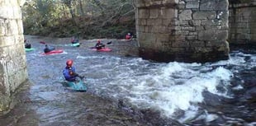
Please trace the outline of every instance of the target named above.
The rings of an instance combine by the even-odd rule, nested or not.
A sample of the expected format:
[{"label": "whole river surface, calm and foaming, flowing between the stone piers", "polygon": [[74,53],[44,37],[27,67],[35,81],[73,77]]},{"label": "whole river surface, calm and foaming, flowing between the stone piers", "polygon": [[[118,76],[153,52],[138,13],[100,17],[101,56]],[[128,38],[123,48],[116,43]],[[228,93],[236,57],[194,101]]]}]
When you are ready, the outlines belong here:
[{"label": "whole river surface, calm and foaming, flowing between the stone piers", "polygon": [[[229,60],[216,63],[155,63],[116,55],[115,49],[95,52],[89,42],[56,46],[64,53],[43,56],[38,41],[32,44],[37,49],[26,53],[29,101],[0,119],[2,124],[256,125],[256,49],[235,49]],[[61,85],[69,58],[85,76],[87,92]]]}]

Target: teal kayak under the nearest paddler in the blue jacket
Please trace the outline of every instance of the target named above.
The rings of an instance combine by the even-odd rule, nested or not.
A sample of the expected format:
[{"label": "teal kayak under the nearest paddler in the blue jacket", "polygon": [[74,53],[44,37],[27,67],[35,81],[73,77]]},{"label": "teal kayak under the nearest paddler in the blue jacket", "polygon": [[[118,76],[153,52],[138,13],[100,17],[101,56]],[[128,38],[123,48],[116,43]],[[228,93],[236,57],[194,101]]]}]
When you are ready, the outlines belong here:
[{"label": "teal kayak under the nearest paddler in the blue jacket", "polygon": [[87,86],[80,77],[77,77],[78,82],[64,81],[64,86],[74,91],[87,91]]}]

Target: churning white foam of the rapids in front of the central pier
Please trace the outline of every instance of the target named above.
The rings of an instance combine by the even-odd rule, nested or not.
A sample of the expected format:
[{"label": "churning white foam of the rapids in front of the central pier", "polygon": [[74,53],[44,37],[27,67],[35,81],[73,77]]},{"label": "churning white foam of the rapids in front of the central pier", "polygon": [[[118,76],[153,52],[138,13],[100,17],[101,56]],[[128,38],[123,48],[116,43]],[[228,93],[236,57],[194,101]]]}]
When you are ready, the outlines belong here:
[{"label": "churning white foam of the rapids in front of the central pier", "polygon": [[[111,81],[95,84],[98,93],[105,91],[107,95],[114,96],[115,99],[126,99],[140,109],[159,110],[164,116],[178,119],[181,123],[197,118],[201,110],[198,104],[205,99],[203,92],[230,98],[228,90],[234,73],[239,72],[239,68],[256,66],[255,55],[242,53],[230,56],[229,60],[206,64],[150,63],[142,58],[113,57],[107,57],[111,58],[111,62],[108,62],[104,57],[106,56],[77,57],[104,59],[100,64],[93,65],[92,69],[108,69],[104,69],[101,72],[102,78],[97,78],[97,81],[94,79],[92,84],[106,79],[104,77],[111,78]],[[231,68],[227,69],[227,66]],[[234,87],[236,90],[242,88],[243,86]],[[200,117],[206,121],[216,119],[215,114],[207,112]]]}]

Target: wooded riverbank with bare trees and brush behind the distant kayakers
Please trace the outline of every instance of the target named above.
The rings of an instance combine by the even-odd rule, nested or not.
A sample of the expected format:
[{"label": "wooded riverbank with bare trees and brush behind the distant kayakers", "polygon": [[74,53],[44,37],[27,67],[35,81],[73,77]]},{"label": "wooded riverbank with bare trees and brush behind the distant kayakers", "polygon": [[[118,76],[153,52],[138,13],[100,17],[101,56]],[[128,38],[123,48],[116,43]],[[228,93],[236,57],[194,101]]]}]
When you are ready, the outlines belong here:
[{"label": "wooded riverbank with bare trees and brush behind the distant kayakers", "polygon": [[135,36],[134,0],[26,0],[25,35],[81,39]]}]

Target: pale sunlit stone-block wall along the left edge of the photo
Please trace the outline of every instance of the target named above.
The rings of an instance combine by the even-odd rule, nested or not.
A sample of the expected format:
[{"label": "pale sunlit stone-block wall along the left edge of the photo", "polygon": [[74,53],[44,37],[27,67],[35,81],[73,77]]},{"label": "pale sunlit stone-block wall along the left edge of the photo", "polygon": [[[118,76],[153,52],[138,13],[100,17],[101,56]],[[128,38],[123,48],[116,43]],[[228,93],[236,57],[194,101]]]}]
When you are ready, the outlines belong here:
[{"label": "pale sunlit stone-block wall along the left edge of the photo", "polygon": [[21,2],[0,2],[0,112],[9,110],[12,94],[26,81]]}]

